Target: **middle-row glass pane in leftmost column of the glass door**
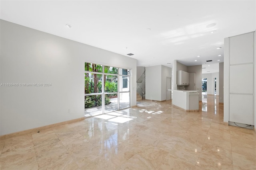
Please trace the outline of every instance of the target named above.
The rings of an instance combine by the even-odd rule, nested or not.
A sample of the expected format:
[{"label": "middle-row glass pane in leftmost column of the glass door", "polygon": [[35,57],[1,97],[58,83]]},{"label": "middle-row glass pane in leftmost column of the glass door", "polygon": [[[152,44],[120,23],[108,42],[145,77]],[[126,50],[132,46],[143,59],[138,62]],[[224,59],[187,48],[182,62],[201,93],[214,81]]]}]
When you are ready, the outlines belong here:
[{"label": "middle-row glass pane in leftmost column of the glass door", "polygon": [[102,75],[84,73],[84,93],[101,93]]}]

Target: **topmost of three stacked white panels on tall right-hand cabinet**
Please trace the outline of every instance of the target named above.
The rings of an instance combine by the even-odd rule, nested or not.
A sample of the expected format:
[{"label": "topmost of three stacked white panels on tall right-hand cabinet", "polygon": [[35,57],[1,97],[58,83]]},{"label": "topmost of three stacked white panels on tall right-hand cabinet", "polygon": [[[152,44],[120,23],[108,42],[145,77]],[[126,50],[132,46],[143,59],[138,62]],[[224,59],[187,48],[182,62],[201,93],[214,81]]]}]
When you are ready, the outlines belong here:
[{"label": "topmost of three stacked white panels on tall right-hand cabinet", "polygon": [[253,63],[254,33],[230,37],[230,64]]}]

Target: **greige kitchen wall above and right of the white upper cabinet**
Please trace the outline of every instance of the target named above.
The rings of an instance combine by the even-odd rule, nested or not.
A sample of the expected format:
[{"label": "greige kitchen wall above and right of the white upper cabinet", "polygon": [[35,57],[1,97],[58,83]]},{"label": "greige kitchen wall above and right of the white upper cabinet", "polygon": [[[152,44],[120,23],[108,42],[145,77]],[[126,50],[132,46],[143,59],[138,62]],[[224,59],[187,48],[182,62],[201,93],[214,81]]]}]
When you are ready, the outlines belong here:
[{"label": "greige kitchen wall above and right of the white upper cabinet", "polygon": [[188,72],[196,73],[196,90],[199,93],[199,101],[202,101],[202,65],[188,66]]}]

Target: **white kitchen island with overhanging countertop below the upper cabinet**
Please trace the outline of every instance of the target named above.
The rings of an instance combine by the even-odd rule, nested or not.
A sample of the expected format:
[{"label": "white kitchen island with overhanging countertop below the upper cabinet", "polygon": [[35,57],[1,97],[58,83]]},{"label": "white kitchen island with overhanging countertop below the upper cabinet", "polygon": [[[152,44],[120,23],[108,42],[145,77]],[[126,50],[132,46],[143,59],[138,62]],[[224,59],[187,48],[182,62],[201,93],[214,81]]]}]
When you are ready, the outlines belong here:
[{"label": "white kitchen island with overhanging countertop below the upper cabinet", "polygon": [[172,104],[186,111],[199,111],[199,93],[197,90],[172,91]]}]

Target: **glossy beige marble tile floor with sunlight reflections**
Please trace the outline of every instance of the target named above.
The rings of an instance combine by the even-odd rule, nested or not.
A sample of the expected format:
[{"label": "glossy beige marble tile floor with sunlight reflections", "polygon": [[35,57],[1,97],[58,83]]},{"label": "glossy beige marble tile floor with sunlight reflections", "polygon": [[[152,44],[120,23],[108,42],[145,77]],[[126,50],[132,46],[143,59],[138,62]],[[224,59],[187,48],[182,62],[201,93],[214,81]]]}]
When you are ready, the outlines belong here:
[{"label": "glossy beige marble tile floor with sunlight reflections", "polygon": [[[217,104],[216,104],[217,103]],[[256,133],[223,122],[218,96],[199,112],[171,101],[0,140],[1,170],[255,170]]]}]

